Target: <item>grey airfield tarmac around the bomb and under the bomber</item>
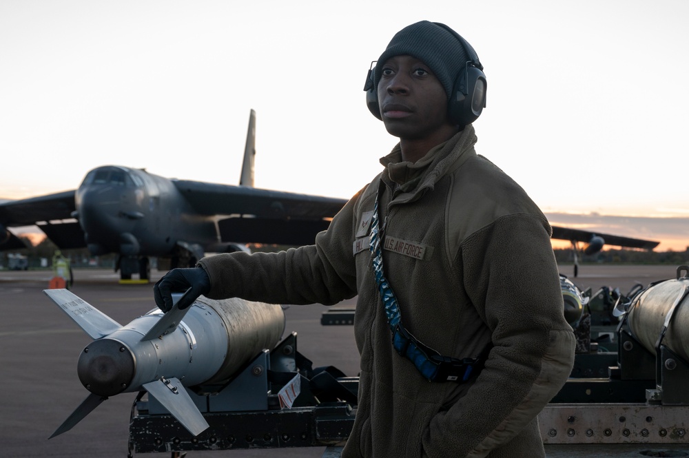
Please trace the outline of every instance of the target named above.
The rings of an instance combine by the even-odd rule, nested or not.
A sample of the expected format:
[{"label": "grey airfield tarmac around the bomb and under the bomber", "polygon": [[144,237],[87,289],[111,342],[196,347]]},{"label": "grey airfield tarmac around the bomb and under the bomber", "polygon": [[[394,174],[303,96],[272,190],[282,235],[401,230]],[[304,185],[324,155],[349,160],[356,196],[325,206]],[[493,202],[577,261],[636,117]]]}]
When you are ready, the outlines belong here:
[{"label": "grey airfield tarmac around the bomb and under the bomber", "polygon": [[[619,287],[626,293],[636,282],[676,277],[673,266],[584,265],[572,278],[579,289]],[[163,273],[152,272],[153,281]],[[127,457],[129,418],[135,393],[107,399],[72,430],[48,440],[79,406],[88,392],[76,375],[76,361],[90,342],[43,289],[51,271],[0,271],[0,457]],[[152,284],[118,282],[110,270],[74,271],[72,292],[121,324],[154,309]],[[353,306],[346,301],[339,306]],[[322,305],[292,306],[286,311],[285,333],[298,333],[298,350],[313,366],[336,366],[349,376],[358,374],[358,352],[352,326],[322,326]],[[320,458],[325,448],[282,448],[187,452],[187,457],[305,457]],[[672,450],[672,455],[646,455],[644,450]],[[548,458],[689,456],[689,444],[675,446],[546,446]],[[686,455],[684,455],[685,453]],[[146,454],[169,456],[169,454]],[[136,454],[136,456],[146,456]]]}]

